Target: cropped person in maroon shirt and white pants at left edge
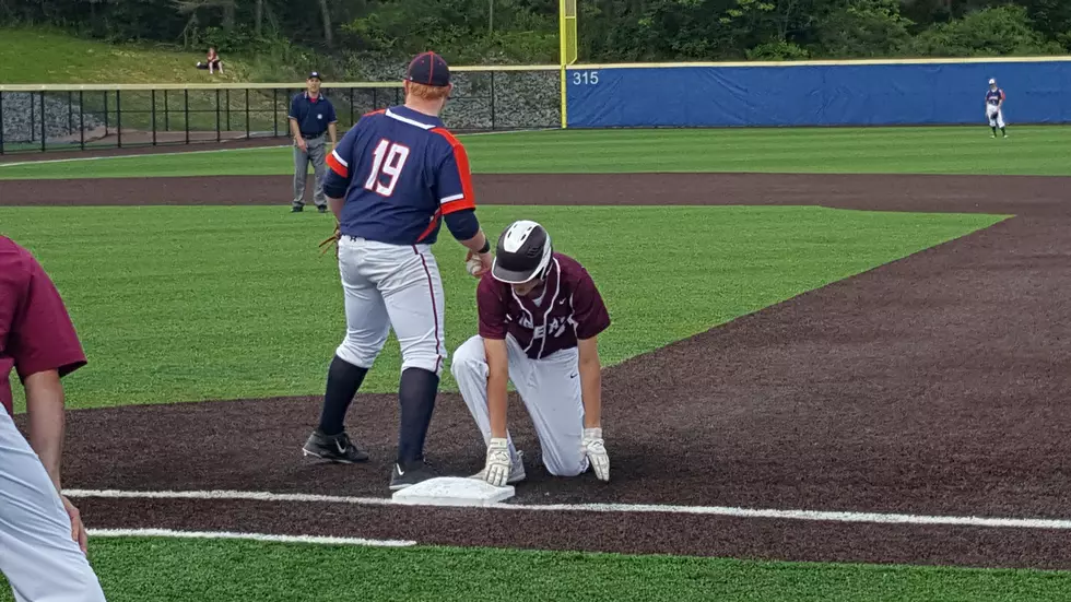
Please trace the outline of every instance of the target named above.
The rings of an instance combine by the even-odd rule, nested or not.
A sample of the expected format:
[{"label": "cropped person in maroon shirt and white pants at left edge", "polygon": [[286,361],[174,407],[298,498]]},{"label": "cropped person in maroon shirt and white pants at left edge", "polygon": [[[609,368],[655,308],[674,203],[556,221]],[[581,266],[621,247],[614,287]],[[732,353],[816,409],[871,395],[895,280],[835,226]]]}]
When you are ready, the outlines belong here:
[{"label": "cropped person in maroon shirt and white pants at left edge", "polygon": [[[0,236],[0,571],[19,601],[104,601],[79,510],[60,494],[60,379],[84,365],[51,279]],[[28,442],[11,418],[12,367],[26,391]]]}]

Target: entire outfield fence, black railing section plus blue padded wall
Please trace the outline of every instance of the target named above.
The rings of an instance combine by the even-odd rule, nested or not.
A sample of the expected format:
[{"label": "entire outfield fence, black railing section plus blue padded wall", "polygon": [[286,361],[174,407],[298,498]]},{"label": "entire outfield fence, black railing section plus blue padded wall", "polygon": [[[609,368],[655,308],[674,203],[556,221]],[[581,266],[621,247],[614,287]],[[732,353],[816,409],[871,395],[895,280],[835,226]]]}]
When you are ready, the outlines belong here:
[{"label": "entire outfield fence, black railing section plus blue padded wall", "polygon": [[[455,68],[459,132],[985,123],[989,78],[1011,123],[1071,122],[1071,58]],[[286,138],[292,84],[0,85],[0,153]],[[340,131],[402,101],[400,82],[325,83]]]}]

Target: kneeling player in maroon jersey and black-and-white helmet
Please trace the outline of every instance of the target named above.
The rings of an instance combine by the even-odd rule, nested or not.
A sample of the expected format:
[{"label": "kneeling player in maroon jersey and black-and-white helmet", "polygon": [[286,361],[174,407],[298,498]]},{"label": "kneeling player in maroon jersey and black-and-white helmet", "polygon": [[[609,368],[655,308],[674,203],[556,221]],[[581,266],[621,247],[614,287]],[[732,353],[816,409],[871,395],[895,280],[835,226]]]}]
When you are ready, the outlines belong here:
[{"label": "kneeling player in maroon jersey and black-and-white helmet", "polygon": [[576,260],[554,252],[536,222],[514,222],[476,288],[480,333],[455,352],[451,373],[487,445],[475,474],[495,486],[525,479],[506,428],[506,383],[531,414],[543,463],[555,476],[593,469],[610,480],[602,440],[602,376],[597,335],[610,315]]}]

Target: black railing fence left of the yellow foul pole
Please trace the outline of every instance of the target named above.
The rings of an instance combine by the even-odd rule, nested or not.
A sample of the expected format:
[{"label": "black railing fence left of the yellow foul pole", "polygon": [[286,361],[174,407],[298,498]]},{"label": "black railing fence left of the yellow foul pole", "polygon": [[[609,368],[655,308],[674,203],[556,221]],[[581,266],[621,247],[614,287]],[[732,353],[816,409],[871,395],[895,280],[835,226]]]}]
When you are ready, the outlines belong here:
[{"label": "black railing fence left of the yellow foul pole", "polygon": [[[443,119],[458,132],[560,126],[557,72],[458,70]],[[0,154],[220,143],[290,135],[301,84],[0,85]],[[325,84],[344,132],[403,102],[400,83]]]}]

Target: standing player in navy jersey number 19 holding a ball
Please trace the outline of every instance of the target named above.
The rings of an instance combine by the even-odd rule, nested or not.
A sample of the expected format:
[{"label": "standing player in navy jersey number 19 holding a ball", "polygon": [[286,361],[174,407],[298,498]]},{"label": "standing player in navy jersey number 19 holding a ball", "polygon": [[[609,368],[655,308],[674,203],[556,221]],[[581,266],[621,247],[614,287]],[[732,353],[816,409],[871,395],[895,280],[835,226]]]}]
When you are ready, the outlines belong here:
[{"label": "standing player in navy jersey number 19 holding a ball", "polygon": [[452,90],[446,61],[434,52],[417,56],[403,85],[403,106],[365,115],[328,156],[323,190],[339,220],[346,333],[328,369],[320,424],[304,447],[338,462],[368,459],[343,421],[393,328],[402,373],[391,489],[435,476],[424,439],[447,358],[443,282],[431,251],[442,222],[469,249],[466,261],[479,258],[474,275],[492,265],[464,146],[438,118]]}]

